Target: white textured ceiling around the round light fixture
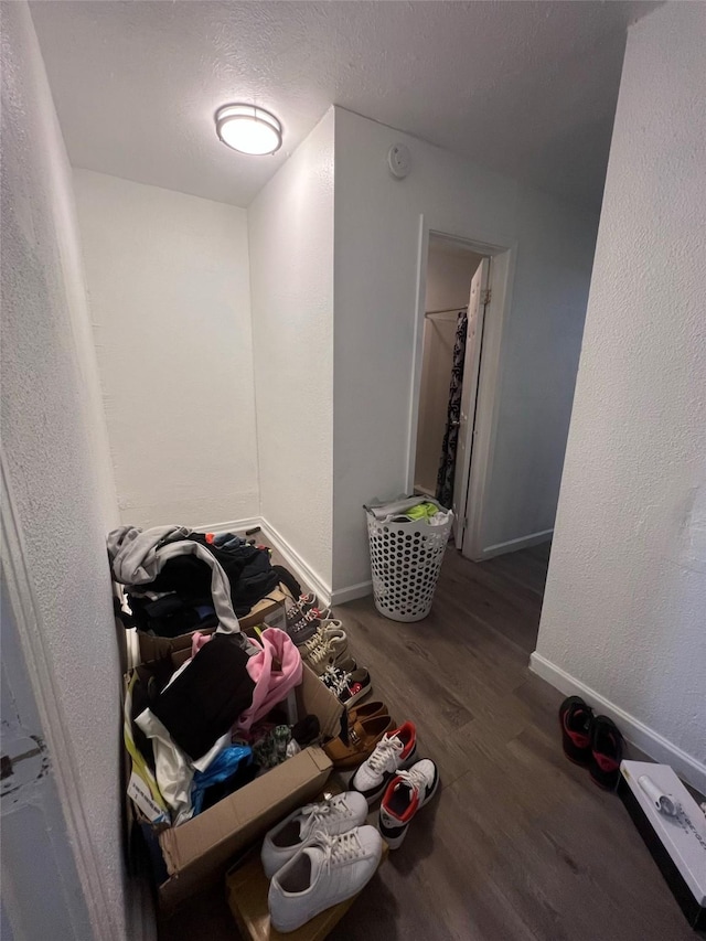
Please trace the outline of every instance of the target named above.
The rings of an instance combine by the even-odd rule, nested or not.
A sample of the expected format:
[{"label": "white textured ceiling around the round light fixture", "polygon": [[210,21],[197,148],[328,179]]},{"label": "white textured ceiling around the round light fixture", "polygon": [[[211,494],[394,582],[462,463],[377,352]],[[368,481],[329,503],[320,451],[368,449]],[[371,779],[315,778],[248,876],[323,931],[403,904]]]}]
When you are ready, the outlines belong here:
[{"label": "white textured ceiling around the round light fixture", "polygon": [[[247,205],[331,104],[597,205],[642,2],[31,3],[72,162]],[[216,139],[234,100],[274,157]]]}]

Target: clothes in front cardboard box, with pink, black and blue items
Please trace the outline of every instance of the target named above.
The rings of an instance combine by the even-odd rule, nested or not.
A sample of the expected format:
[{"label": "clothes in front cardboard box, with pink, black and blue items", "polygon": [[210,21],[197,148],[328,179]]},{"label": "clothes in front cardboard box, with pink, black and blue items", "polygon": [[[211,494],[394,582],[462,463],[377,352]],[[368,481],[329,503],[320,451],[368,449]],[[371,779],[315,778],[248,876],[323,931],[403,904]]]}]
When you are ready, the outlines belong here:
[{"label": "clothes in front cardboard box, with pink, black and blue items", "polygon": [[[180,666],[165,653],[132,673],[125,742],[164,822],[191,820],[319,735],[318,723],[297,721],[302,664],[288,634],[267,628],[247,648],[242,637],[196,632]],[[272,728],[286,738],[277,760],[267,744]],[[297,748],[287,749],[292,740]]]}]

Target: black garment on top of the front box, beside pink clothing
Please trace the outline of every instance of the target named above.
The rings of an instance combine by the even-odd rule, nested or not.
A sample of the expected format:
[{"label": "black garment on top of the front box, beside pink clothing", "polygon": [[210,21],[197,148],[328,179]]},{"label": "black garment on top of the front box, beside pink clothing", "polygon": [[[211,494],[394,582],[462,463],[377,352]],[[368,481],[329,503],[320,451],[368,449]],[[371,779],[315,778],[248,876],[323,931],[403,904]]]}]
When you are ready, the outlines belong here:
[{"label": "black garment on top of the front box, beside pink clothing", "polygon": [[[252,660],[261,654],[263,651]],[[193,657],[189,669],[152,703],[154,715],[192,759],[201,758],[238,716],[252,710],[257,686],[248,670],[249,660],[235,638],[215,634]],[[267,664],[270,666],[271,654]]]}]

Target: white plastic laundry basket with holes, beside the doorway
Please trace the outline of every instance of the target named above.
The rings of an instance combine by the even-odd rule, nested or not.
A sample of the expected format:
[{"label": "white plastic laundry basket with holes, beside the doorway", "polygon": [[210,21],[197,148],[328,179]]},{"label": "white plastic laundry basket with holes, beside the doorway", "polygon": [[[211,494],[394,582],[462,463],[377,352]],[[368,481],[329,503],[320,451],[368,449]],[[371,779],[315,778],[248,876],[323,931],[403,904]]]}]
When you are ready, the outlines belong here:
[{"label": "white plastic laundry basket with holes, beside the doorway", "polygon": [[453,514],[440,526],[384,523],[370,511],[366,516],[375,607],[393,621],[420,621],[431,610]]}]

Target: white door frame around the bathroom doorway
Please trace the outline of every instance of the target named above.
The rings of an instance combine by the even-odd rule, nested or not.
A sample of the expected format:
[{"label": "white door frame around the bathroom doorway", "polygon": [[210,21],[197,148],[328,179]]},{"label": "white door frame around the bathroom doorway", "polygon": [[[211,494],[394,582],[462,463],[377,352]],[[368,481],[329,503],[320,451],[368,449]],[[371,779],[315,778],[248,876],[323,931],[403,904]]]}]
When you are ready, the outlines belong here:
[{"label": "white door frame around the bathroom doorway", "polygon": [[[424,320],[427,295],[427,264],[429,239],[436,236],[447,242],[466,246],[470,252],[492,258],[490,282],[490,303],[485,308],[483,349],[478,383],[475,408],[475,438],[469,469],[468,506],[474,507],[468,513],[468,524],[463,546],[464,555],[474,560],[484,558],[484,522],[489,482],[492,475],[495,438],[500,418],[500,388],[504,371],[503,336],[510,319],[512,285],[515,274],[516,242],[485,237],[478,238],[463,233],[449,232],[445,227],[432,225],[424,215],[419,218],[419,242],[417,253],[417,304],[415,314],[411,386],[409,396],[409,429],[407,451],[406,492],[411,493],[415,485],[415,462],[417,450],[417,424],[419,419],[419,397],[421,392],[421,364],[424,353]],[[470,284],[470,280],[469,280]]]}]

